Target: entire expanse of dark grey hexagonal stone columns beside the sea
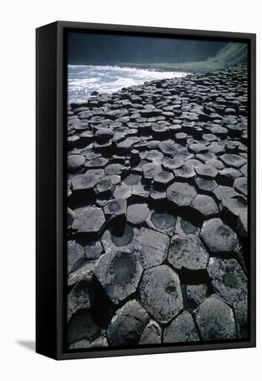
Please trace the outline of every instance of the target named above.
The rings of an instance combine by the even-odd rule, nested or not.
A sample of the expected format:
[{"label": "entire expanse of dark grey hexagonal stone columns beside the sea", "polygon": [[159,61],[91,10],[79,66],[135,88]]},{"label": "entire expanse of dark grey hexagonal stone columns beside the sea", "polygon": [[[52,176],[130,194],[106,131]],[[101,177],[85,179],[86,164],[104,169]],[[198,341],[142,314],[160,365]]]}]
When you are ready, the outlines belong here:
[{"label": "entire expanse of dark grey hexagonal stone columns beside the sea", "polygon": [[68,348],[245,339],[247,71],[68,107]]}]

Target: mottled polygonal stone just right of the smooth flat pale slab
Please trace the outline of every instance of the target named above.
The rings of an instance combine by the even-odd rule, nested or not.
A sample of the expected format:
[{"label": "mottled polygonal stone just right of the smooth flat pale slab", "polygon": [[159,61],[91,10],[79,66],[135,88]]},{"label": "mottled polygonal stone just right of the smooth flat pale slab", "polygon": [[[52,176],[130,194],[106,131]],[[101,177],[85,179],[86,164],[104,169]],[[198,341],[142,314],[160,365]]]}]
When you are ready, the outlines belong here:
[{"label": "mottled polygonal stone just right of the smooth flat pale slab", "polygon": [[194,234],[178,234],[171,238],[167,260],[176,269],[200,270],[207,267],[209,254]]}]

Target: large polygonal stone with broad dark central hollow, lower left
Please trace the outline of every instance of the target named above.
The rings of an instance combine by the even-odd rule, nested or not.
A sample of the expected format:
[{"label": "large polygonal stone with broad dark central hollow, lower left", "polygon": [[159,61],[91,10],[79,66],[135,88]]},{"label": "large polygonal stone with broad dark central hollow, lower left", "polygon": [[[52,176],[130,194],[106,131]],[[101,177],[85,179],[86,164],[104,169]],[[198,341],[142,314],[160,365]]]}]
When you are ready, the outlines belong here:
[{"label": "large polygonal stone with broad dark central hollow, lower left", "polygon": [[111,301],[118,304],[135,292],[142,271],[138,258],[133,254],[115,251],[100,256],[94,273]]}]

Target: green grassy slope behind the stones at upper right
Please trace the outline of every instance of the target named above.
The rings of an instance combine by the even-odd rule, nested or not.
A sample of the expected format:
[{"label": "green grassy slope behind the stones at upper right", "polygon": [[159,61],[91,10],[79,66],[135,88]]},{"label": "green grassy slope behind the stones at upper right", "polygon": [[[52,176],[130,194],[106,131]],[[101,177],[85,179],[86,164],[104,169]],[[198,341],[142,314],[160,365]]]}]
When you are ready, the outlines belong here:
[{"label": "green grassy slope behind the stones at upper right", "polygon": [[205,61],[186,62],[182,64],[119,64],[120,67],[137,67],[141,69],[158,69],[171,71],[205,72],[218,71],[236,64],[247,63],[247,44],[230,42],[217,53]]}]

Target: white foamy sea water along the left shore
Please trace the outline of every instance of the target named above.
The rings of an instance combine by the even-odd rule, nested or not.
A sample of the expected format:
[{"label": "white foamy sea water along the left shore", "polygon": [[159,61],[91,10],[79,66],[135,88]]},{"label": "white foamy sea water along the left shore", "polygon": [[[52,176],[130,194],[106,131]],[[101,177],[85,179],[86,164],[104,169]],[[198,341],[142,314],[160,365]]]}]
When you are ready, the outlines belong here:
[{"label": "white foamy sea water along the left shore", "polygon": [[179,71],[156,71],[102,65],[68,65],[68,102],[84,101],[93,91],[112,93],[145,81],[186,76]]}]

